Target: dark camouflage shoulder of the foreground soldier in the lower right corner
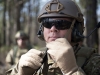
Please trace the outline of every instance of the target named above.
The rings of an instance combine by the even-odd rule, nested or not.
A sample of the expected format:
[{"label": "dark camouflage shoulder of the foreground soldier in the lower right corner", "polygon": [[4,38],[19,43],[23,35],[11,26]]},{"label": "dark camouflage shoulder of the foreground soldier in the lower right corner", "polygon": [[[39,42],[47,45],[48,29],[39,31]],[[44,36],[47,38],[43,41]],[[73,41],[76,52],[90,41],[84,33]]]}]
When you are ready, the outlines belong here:
[{"label": "dark camouflage shoulder of the foreground soldier in the lower right corner", "polygon": [[89,57],[84,65],[84,71],[87,75],[100,75],[100,55],[98,53]]}]

